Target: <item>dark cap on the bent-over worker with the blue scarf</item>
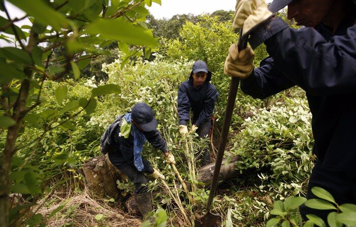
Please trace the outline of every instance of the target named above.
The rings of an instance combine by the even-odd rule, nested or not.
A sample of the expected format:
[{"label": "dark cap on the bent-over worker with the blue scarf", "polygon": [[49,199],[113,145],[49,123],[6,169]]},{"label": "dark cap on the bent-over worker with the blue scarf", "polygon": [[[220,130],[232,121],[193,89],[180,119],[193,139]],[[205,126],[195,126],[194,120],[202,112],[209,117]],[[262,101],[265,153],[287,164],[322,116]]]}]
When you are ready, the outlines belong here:
[{"label": "dark cap on the bent-over worker with the blue scarf", "polygon": [[141,126],[144,132],[151,132],[157,128],[155,113],[145,103],[138,103],[132,108],[131,118]]}]

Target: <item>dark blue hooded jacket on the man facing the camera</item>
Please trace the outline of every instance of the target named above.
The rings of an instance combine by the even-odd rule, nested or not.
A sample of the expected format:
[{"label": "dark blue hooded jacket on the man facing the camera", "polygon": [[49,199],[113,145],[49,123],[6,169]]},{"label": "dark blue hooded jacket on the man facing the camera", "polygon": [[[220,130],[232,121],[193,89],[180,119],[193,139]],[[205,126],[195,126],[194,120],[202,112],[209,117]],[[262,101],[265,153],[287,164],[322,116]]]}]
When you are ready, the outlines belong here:
[{"label": "dark blue hooded jacket on the man facing the camera", "polygon": [[210,83],[212,73],[208,71],[203,85],[193,86],[193,72],[188,80],[184,81],[178,90],[179,124],[189,121],[189,111],[193,111],[192,123],[199,127],[205,121],[211,120],[216,99],[219,95],[215,86]]}]

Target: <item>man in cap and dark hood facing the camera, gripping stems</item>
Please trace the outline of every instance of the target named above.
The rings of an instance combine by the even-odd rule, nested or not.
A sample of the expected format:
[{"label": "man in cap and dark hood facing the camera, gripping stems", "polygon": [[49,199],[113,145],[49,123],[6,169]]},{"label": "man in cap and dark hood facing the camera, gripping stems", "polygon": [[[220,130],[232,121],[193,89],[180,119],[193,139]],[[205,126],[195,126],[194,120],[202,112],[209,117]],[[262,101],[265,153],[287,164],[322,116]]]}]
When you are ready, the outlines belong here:
[{"label": "man in cap and dark hood facing the camera, gripping stems", "polygon": [[[192,131],[200,138],[209,135],[211,118],[216,99],[219,95],[215,86],[210,83],[212,72],[207,69],[204,61],[195,61],[188,80],[183,82],[178,90],[179,127],[182,135],[188,133],[187,122],[189,112],[193,111]],[[204,149],[201,165],[211,163],[208,149]]]}]

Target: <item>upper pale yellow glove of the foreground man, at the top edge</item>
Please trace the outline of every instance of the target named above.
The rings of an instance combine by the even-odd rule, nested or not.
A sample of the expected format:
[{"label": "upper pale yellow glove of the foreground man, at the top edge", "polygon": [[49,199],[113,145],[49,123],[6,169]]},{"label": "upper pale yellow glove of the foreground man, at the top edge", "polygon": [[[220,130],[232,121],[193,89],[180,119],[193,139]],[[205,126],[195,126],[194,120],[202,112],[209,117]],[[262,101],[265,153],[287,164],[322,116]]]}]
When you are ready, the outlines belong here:
[{"label": "upper pale yellow glove of the foreground man, at the top edge", "polygon": [[252,28],[273,16],[268,10],[264,0],[238,0],[236,1],[232,28],[243,28],[242,35]]}]

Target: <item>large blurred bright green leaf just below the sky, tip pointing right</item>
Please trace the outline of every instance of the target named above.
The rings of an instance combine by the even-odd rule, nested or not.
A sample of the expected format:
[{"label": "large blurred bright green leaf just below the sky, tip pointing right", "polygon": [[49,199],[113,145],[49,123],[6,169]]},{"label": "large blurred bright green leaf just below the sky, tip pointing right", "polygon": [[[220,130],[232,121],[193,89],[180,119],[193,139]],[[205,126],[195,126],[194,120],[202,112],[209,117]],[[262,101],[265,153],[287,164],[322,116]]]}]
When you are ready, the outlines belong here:
[{"label": "large blurred bright green leaf just below the sky, tip pointing right", "polygon": [[133,45],[158,46],[150,30],[134,25],[123,17],[112,20],[99,19],[90,24],[85,32],[93,36],[100,34],[104,39],[123,41]]}]

